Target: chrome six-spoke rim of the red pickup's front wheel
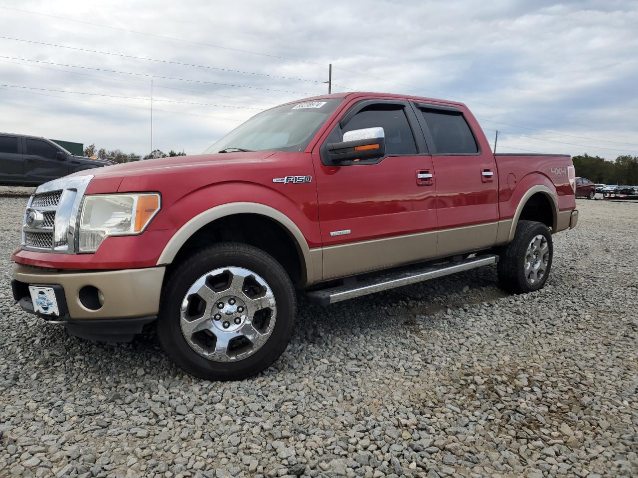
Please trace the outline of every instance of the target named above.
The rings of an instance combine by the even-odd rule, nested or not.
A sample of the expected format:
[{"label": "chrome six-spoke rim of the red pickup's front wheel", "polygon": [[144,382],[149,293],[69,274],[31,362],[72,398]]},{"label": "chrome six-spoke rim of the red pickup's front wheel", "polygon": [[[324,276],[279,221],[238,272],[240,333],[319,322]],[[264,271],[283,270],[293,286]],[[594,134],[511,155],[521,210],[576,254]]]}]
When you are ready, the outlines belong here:
[{"label": "chrome six-spoke rim of the red pickup's front wheel", "polygon": [[188,289],[180,324],[195,352],[231,362],[251,356],[267,342],[276,314],[274,294],[262,277],[226,267],[205,273]]}]

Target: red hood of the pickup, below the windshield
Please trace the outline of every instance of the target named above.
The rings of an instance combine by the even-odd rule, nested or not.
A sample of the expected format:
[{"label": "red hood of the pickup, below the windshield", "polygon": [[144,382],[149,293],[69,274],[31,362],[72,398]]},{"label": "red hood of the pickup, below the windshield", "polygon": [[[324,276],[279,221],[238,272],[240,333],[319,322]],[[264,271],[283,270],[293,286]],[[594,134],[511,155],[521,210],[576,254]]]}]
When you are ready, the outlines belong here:
[{"label": "red hood of the pickup, below the windshield", "polygon": [[[191,168],[200,169],[207,166],[211,168],[241,167],[246,165],[246,163],[255,163],[266,159],[274,153],[273,151],[251,151],[140,159],[131,161],[131,163],[114,164],[108,168],[91,170],[91,175],[94,176],[94,180],[99,180],[100,178],[124,178],[158,174],[172,175],[178,171],[186,171]],[[79,171],[75,175],[86,175],[86,171]]]}]

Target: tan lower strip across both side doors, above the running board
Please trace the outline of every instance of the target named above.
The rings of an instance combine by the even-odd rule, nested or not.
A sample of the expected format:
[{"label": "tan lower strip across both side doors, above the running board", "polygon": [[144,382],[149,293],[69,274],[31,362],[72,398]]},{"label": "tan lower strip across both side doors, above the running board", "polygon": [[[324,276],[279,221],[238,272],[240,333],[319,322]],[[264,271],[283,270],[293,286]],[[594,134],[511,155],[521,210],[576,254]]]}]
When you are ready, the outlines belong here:
[{"label": "tan lower strip across both side doors, above the running board", "polygon": [[492,247],[498,228],[498,222],[489,222],[325,247],[323,280]]}]

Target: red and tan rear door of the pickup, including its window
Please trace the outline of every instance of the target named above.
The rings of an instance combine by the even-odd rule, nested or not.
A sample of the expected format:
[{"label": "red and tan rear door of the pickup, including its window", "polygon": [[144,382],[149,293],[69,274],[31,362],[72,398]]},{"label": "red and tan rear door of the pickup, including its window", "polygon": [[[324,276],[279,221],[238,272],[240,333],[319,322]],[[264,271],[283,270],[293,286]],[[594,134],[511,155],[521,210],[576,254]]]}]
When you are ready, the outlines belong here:
[{"label": "red and tan rear door of the pickup, including its window", "polygon": [[[498,171],[487,143],[461,107],[413,103],[432,154],[439,238],[437,255],[491,247],[498,231]],[[473,124],[473,127],[475,124]]]}]

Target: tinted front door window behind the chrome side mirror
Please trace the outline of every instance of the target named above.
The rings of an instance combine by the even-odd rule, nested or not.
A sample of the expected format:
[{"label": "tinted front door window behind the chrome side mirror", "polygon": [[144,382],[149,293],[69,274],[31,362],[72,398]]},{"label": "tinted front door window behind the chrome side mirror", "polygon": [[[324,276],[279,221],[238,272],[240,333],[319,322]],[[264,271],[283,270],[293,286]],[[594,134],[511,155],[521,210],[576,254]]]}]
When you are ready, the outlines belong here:
[{"label": "tinted front door window behind the chrome side mirror", "polygon": [[385,154],[417,154],[414,135],[401,106],[368,106],[354,115],[342,132],[378,126],[381,126],[385,133]]}]

